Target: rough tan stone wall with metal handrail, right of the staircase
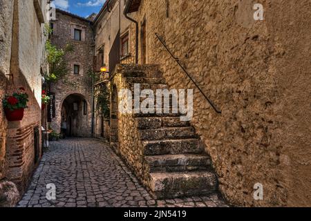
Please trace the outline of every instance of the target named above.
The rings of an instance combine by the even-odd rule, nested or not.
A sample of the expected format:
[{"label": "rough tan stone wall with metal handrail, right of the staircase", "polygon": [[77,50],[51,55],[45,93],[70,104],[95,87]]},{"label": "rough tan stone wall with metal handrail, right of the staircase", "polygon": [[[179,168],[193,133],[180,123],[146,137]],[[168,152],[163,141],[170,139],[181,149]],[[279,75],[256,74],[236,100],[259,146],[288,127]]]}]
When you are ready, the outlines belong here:
[{"label": "rough tan stone wall with metal handrail, right of the staircase", "polygon": [[[263,4],[264,21],[254,21],[254,3]],[[194,88],[192,124],[233,204],[311,205],[310,9],[308,0],[143,0],[134,15],[139,23],[146,18],[147,62],[161,65],[171,88]],[[133,33],[131,26],[132,53]],[[258,182],[264,199],[256,201]]]}]

